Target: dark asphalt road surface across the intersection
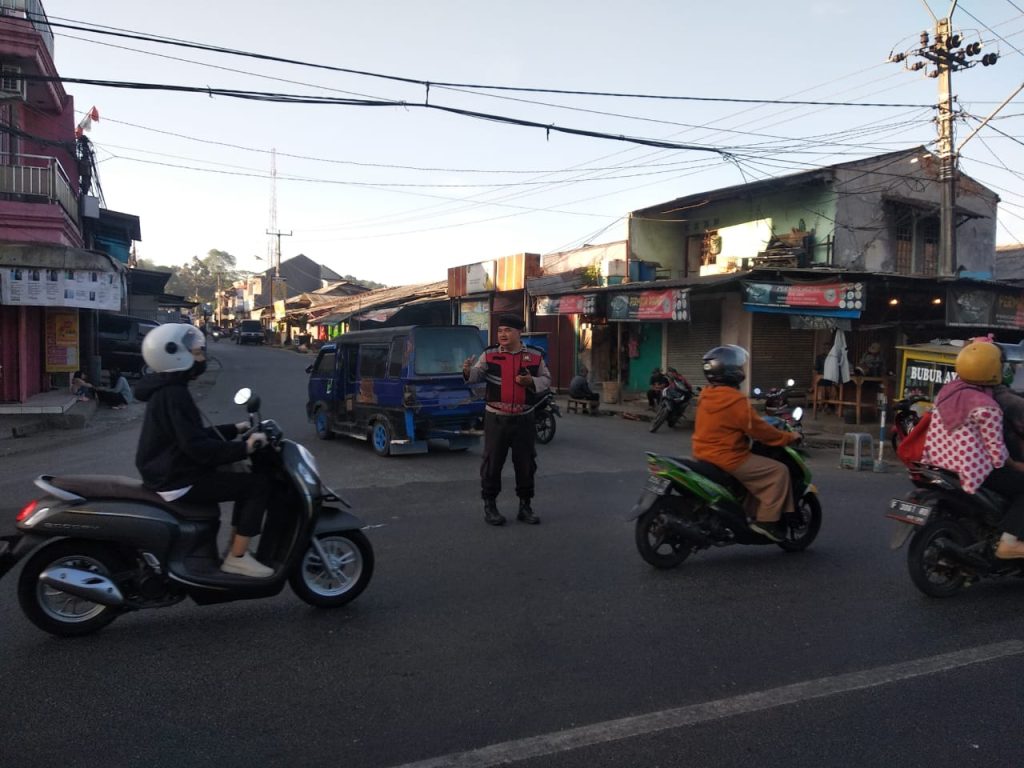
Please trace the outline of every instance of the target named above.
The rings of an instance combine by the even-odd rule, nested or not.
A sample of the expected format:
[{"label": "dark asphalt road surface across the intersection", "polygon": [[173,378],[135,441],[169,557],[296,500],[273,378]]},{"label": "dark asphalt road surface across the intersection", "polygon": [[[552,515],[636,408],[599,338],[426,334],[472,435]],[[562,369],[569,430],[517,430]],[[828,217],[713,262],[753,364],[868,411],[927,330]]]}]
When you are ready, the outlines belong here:
[{"label": "dark asphalt road surface across the intersection", "polygon": [[[643,451],[685,453],[685,430],[566,416],[540,446],[543,523],[494,528],[478,449],[380,459],[317,441],[309,355],[211,351],[223,370],[204,410],[237,421],[234,389],[261,394],[371,526],[373,583],[337,611],[285,592],[57,640],[22,616],[15,569],[0,583],[0,765],[1021,763],[1024,585],[921,596],[882,517],[900,473],[819,453],[809,551],[733,547],[656,571],[625,513]],[[137,422],[57,437],[0,459],[0,509],[41,472],[133,473]]]}]

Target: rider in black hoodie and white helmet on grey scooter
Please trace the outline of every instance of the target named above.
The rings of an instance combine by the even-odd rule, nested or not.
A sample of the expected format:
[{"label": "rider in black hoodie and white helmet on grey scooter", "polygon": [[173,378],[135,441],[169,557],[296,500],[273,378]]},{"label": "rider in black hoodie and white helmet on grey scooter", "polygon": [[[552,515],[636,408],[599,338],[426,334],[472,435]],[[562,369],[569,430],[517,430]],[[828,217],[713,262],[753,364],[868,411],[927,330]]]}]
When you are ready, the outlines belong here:
[{"label": "rider in black hoodie and white helmet on grey scooter", "polygon": [[135,396],[145,402],[135,466],[142,483],[165,501],[234,502],[234,536],[221,570],[266,578],[273,569],[249,554],[249,540],[262,527],[269,484],[262,475],[218,472],[221,465],[244,461],[266,442],[254,432],[234,438],[248,422],[206,428],[188,391],[188,382],[206,371],[206,339],[194,326],[165,324],[142,341],[142,356],[157,373],[142,379]]}]

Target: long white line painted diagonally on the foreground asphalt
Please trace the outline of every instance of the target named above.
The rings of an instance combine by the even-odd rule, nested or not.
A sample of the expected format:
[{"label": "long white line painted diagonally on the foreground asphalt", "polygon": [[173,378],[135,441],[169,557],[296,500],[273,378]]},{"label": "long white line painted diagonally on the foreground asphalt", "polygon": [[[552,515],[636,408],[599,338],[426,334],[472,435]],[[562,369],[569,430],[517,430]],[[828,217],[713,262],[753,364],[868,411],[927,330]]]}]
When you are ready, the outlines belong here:
[{"label": "long white line painted diagonally on the foreground asphalt", "polygon": [[489,768],[489,766],[507,765],[522,760],[579,750],[584,746],[620,741],[647,733],[698,725],[711,720],[876,688],[901,680],[936,675],[961,667],[994,662],[1021,653],[1024,653],[1024,641],[1009,640],[953,653],[943,653],[938,656],[878,667],[872,670],[783,685],[780,688],[770,688],[757,693],[745,693],[675,710],[664,710],[648,715],[585,725],[542,736],[504,741],[479,750],[454,753],[416,763],[406,763],[395,766],[395,768]]}]

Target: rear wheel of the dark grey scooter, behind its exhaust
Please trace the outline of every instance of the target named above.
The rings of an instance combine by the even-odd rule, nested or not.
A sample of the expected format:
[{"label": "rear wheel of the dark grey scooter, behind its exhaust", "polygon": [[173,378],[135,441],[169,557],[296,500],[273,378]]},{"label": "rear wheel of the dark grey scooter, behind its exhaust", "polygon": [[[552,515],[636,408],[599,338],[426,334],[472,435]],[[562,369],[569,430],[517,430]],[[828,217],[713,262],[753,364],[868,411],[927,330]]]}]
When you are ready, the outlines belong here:
[{"label": "rear wheel of the dark grey scooter, behind its exhaust", "polygon": [[120,570],[119,560],[102,545],[65,540],[53,542],[34,554],[17,581],[17,601],[29,621],[58,637],[77,637],[101,630],[121,609],[69,595],[39,581],[52,568],[77,568],[111,578]]}]

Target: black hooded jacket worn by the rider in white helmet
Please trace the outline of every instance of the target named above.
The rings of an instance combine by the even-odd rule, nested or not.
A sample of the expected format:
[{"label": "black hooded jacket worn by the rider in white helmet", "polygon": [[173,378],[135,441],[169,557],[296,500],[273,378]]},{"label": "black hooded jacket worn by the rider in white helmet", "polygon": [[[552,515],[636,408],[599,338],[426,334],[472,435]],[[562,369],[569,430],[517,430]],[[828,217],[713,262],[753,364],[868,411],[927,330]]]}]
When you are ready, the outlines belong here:
[{"label": "black hooded jacket worn by the rider in white helmet", "polygon": [[[221,464],[244,461],[246,444],[234,440],[233,424],[205,428],[188,392],[190,374],[153,374],[135,387],[145,402],[145,421],[135,452],[142,483],[153,490],[176,490],[216,471]],[[228,440],[225,442],[225,440]]]}]

